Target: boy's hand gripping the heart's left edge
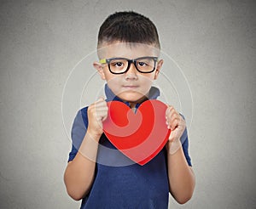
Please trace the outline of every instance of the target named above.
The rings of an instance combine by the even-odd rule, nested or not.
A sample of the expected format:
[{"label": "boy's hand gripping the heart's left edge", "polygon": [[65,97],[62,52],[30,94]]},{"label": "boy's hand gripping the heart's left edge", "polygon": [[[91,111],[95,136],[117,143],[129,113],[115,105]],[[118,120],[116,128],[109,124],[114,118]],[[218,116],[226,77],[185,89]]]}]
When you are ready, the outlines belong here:
[{"label": "boy's hand gripping the heart's left edge", "polygon": [[94,104],[90,104],[87,110],[88,115],[88,129],[87,133],[97,140],[101,138],[103,129],[102,121],[106,120],[108,116],[107,102],[100,98]]}]

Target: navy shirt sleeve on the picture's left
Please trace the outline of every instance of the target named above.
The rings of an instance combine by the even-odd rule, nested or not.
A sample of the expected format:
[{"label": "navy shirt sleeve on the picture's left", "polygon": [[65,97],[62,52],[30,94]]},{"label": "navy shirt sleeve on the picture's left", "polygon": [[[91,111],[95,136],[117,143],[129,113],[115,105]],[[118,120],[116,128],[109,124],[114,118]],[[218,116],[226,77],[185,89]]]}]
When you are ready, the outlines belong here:
[{"label": "navy shirt sleeve on the picture's left", "polygon": [[79,110],[73,121],[73,127],[71,131],[72,150],[69,153],[68,161],[73,161],[84,139],[84,135],[88,127],[87,109],[88,108],[85,107],[84,109]]}]

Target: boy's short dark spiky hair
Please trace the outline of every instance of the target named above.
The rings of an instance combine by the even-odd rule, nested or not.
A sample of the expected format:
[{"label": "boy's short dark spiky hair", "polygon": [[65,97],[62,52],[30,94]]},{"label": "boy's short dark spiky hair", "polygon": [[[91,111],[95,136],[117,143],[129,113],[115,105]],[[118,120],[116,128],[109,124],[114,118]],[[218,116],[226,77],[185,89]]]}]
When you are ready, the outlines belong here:
[{"label": "boy's short dark spiky hair", "polygon": [[160,48],[154,23],[136,12],[116,12],[102,23],[98,34],[98,48],[103,42],[139,42]]}]

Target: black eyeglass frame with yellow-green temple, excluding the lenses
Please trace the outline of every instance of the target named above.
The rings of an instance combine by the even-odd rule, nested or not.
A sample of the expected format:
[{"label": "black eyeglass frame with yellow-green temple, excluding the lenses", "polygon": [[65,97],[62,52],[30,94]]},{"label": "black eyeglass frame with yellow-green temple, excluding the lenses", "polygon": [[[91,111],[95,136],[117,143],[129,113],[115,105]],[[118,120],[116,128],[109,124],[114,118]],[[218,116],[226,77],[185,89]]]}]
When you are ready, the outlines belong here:
[{"label": "black eyeglass frame with yellow-green temple, excluding the lenses", "polygon": [[[137,62],[137,59],[147,59],[147,58],[150,58],[150,59],[154,59],[154,68],[152,71],[148,71],[148,72],[143,72],[143,71],[140,71],[137,69],[137,65],[136,65],[136,62]],[[124,71],[124,72],[113,72],[111,71],[110,69],[110,62],[113,60],[113,59],[125,59],[128,61],[128,65],[127,65],[127,69]],[[156,62],[158,61],[158,57],[150,57],[150,56],[146,56],[146,57],[138,57],[136,59],[127,59],[127,58],[121,58],[121,57],[116,57],[116,58],[109,58],[109,59],[100,59],[100,63],[101,64],[108,64],[108,70],[112,73],[112,74],[116,74],[116,75],[119,75],[119,74],[125,74],[127,71],[129,71],[130,67],[131,67],[131,63],[133,63],[133,65],[135,66],[136,70],[140,73],[151,73],[151,72],[154,72],[155,70],[155,66],[156,66]]]}]

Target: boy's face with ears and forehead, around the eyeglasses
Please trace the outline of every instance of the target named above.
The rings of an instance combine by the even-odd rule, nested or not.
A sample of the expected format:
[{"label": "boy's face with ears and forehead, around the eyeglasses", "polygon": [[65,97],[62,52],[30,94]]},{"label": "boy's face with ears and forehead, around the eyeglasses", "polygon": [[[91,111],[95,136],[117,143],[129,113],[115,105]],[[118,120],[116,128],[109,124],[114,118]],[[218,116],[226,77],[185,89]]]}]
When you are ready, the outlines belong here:
[{"label": "boy's face with ears and forehead, around the eyeglasses", "polygon": [[[158,57],[160,54],[159,49],[140,43],[132,43],[131,45],[125,42],[115,42],[111,45],[105,44],[103,47],[101,52],[99,52],[101,59],[137,59],[141,57]],[[125,65],[125,60],[124,62],[122,60],[123,59],[119,59],[120,62],[118,61],[118,63],[113,62],[113,64],[110,65],[110,70]],[[144,59],[137,61],[137,68],[143,69],[145,65],[143,61]],[[152,63],[154,63],[154,61],[152,61]],[[122,74],[113,74],[113,72],[109,70],[108,63],[101,64],[95,62],[94,66],[102,79],[108,82],[108,87],[119,99],[130,103],[137,103],[148,96],[152,82],[159,75],[162,64],[162,59],[155,61],[155,68],[154,65],[152,65],[152,70],[154,71],[142,73],[137,71],[134,63],[131,63],[127,71],[125,71],[125,69],[127,69],[125,66],[125,73]]]}]

